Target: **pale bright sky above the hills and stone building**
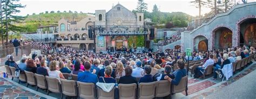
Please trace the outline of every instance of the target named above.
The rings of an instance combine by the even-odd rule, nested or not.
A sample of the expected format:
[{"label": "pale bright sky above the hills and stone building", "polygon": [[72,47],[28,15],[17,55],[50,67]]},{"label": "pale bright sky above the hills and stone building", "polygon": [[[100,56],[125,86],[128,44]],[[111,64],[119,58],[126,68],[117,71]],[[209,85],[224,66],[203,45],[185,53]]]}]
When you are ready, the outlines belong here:
[{"label": "pale bright sky above the hills and stone building", "polygon": [[[137,7],[138,0],[20,0],[19,3],[26,5],[26,8],[21,9],[18,15],[25,16],[32,13],[40,13],[45,11],[77,11],[77,12],[91,12],[95,10],[109,11],[112,5],[118,2],[124,5],[127,9],[133,10]],[[193,6],[190,1],[194,0],[144,0],[148,5],[148,11],[152,11],[153,5],[157,4],[162,12],[185,12],[192,16],[197,16],[199,10]],[[206,13],[207,8],[202,10]]]}]

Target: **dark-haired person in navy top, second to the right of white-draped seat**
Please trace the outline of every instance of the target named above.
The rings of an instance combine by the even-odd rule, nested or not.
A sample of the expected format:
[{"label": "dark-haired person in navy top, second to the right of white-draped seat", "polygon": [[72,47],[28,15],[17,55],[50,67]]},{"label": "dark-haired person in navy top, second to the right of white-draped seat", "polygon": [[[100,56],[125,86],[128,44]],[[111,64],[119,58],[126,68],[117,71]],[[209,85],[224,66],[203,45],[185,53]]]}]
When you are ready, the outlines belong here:
[{"label": "dark-haired person in navy top, second to the right of white-draped seat", "polygon": [[144,71],[145,71],[146,75],[144,75],[143,77],[141,77],[139,79],[139,83],[153,82],[152,75],[150,74],[151,73],[151,67],[150,66],[145,66]]}]

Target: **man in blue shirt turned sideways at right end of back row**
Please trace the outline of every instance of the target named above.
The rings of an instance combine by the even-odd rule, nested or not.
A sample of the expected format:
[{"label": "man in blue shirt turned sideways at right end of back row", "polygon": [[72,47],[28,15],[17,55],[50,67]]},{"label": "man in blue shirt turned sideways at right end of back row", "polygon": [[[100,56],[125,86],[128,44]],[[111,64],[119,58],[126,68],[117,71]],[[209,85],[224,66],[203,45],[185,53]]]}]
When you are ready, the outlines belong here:
[{"label": "man in blue shirt turned sideways at right end of back row", "polygon": [[172,76],[174,77],[174,79],[172,79],[167,75],[164,77],[165,80],[170,81],[172,84],[176,86],[179,84],[181,78],[187,75],[186,69],[184,68],[185,66],[184,61],[178,60],[177,65],[178,65],[178,69],[172,73]]}]

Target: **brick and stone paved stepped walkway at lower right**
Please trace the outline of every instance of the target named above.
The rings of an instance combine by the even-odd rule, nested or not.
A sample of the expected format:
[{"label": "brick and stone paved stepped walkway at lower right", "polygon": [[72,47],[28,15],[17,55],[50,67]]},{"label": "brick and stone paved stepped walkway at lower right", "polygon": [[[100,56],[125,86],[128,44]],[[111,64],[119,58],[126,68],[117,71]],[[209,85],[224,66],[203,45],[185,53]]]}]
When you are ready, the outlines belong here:
[{"label": "brick and stone paved stepped walkway at lower right", "polygon": [[173,95],[172,98],[206,98],[208,95],[218,92],[231,83],[238,81],[245,75],[251,73],[256,69],[256,62],[252,63],[250,66],[246,67],[244,70],[237,72],[228,81],[222,81],[222,79],[211,80],[212,75],[208,76],[207,79],[192,79],[188,80],[188,96],[185,96],[185,91],[183,93],[178,93],[178,95]]}]

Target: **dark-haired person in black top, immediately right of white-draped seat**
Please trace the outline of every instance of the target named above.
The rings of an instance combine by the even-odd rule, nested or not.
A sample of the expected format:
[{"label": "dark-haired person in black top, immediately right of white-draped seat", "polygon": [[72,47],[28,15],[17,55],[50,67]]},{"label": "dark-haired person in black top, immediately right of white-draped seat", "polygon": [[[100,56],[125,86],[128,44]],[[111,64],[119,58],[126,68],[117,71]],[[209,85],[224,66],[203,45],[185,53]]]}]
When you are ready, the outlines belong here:
[{"label": "dark-haired person in black top, immediately right of white-draped seat", "polygon": [[136,78],[131,76],[131,74],[132,74],[132,67],[127,66],[125,68],[125,76],[120,77],[118,84],[119,83],[120,84],[132,84],[132,83],[138,84]]}]

